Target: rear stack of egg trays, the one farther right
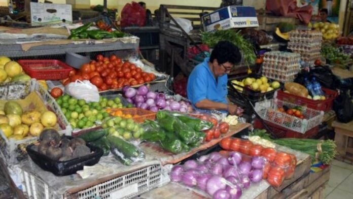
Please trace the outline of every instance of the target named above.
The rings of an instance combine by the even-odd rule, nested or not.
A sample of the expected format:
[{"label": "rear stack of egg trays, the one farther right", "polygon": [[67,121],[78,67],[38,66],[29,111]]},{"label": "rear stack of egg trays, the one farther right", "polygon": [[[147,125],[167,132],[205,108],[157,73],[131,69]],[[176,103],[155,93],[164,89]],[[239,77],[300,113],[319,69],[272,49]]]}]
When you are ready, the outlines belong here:
[{"label": "rear stack of egg trays, the one farther right", "polygon": [[301,59],[313,64],[320,59],[323,34],[317,30],[295,30],[290,32],[288,49],[301,55]]}]

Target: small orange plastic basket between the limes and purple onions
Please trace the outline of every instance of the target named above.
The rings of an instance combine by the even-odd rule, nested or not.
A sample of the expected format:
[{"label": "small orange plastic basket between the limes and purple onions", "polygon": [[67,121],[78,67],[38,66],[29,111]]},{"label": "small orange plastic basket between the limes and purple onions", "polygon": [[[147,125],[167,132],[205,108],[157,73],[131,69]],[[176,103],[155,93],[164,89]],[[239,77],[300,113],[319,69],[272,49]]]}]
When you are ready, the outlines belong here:
[{"label": "small orange plastic basket between the limes and purple onions", "polygon": [[140,108],[126,108],[126,109],[111,109],[112,112],[114,111],[122,111],[124,115],[130,114],[132,115],[132,119],[135,122],[142,123],[147,119],[155,120],[156,113],[149,110],[144,110]]}]

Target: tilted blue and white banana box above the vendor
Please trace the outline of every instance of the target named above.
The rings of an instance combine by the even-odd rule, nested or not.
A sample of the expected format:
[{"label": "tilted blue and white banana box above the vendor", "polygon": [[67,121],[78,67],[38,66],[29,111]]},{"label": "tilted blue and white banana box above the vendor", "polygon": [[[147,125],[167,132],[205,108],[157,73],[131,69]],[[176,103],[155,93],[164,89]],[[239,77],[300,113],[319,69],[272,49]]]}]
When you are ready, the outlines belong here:
[{"label": "tilted blue and white banana box above the vendor", "polygon": [[258,27],[256,10],[251,6],[228,6],[202,16],[203,29],[215,32],[220,29]]}]

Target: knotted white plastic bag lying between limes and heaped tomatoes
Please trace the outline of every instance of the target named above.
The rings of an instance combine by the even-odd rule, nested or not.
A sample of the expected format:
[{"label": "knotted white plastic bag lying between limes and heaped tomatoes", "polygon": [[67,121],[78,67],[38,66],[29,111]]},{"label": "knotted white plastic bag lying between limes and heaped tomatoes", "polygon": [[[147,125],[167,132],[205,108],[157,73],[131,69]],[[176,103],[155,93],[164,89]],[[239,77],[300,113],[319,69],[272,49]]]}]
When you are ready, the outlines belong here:
[{"label": "knotted white plastic bag lying between limes and heaped tomatoes", "polygon": [[86,102],[99,102],[98,88],[88,80],[69,83],[65,86],[65,93]]}]

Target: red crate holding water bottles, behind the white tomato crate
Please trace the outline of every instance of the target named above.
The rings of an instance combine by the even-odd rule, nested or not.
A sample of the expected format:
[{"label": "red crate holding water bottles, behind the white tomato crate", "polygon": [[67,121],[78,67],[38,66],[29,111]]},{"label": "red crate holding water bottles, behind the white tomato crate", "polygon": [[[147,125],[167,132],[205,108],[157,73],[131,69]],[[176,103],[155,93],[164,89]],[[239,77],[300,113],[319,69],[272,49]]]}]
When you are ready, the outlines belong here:
[{"label": "red crate holding water bottles, behind the white tomato crate", "polygon": [[330,90],[328,88],[322,88],[322,90],[325,92],[326,100],[310,100],[309,98],[297,96],[291,93],[284,92],[282,90],[277,91],[276,98],[281,101],[305,106],[317,111],[327,112],[332,109],[333,101],[338,96],[338,92]]}]

